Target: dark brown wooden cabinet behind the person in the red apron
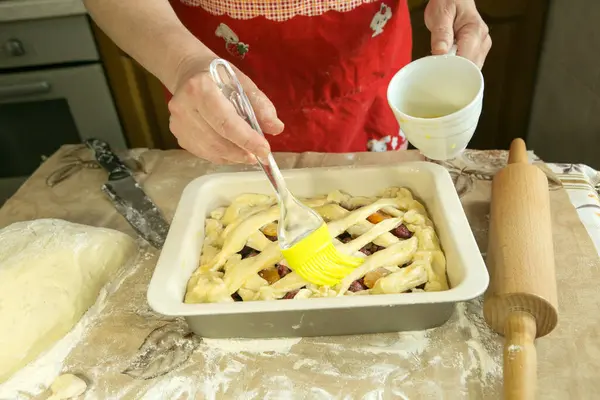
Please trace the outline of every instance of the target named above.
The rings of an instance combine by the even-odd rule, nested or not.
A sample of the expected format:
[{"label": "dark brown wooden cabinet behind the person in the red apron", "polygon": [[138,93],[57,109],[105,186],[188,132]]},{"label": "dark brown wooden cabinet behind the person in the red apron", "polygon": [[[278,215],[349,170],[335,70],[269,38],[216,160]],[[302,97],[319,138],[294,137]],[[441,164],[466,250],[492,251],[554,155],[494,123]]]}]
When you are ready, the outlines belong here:
[{"label": "dark brown wooden cabinet behind the person in the red apron", "polygon": [[[423,21],[427,0],[408,0],[413,58],[430,54]],[[549,0],[477,0],[493,46],[485,66],[483,112],[470,147],[506,149],[527,136]],[[110,85],[131,147],[177,148],[160,83],[95,29]]]}]

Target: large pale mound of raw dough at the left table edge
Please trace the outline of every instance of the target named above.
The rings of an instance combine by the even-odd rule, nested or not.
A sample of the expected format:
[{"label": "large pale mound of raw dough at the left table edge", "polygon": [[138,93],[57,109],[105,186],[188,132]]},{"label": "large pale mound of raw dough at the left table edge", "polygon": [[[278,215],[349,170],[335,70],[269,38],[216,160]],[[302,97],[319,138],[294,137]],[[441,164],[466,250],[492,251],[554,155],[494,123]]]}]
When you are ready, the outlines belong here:
[{"label": "large pale mound of raw dough at the left table edge", "polygon": [[63,220],[0,230],[0,383],[69,332],[136,253],[124,233]]}]

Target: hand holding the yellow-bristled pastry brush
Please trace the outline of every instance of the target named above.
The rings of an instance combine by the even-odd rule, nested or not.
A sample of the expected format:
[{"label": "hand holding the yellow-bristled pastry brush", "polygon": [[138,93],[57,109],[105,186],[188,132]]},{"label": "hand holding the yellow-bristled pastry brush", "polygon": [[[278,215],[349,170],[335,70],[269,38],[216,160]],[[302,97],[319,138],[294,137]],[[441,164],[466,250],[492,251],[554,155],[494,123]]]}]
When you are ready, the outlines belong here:
[{"label": "hand holding the yellow-bristled pastry brush", "polygon": [[[253,154],[266,157],[269,144],[237,114],[212,80],[208,66],[214,58],[194,60],[180,69],[169,102],[169,127],[179,145],[198,157],[217,164],[254,164]],[[283,122],[277,118],[273,103],[238,69],[236,75],[263,132],[281,133]]]}]

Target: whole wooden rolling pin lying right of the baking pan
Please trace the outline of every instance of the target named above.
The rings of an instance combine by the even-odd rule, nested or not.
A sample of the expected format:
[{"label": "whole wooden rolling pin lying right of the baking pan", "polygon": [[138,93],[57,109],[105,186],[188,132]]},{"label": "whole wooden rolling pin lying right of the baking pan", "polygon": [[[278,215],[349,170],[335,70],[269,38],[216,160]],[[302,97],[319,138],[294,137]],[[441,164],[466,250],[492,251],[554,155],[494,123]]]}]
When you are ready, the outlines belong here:
[{"label": "whole wooden rolling pin lying right of the baking pan", "polygon": [[483,314],[506,339],[504,398],[534,400],[534,340],[554,329],[558,306],[548,181],[529,164],[521,139],[512,142],[508,165],[492,183],[486,263]]}]

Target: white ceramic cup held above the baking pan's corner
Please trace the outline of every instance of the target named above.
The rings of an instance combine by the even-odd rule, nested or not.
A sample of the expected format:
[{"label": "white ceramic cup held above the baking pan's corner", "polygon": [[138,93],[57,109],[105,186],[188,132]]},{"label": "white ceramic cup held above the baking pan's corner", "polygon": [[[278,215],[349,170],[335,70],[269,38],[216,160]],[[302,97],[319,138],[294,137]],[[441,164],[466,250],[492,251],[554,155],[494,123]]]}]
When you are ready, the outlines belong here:
[{"label": "white ceramic cup held above the baking pan's corner", "polygon": [[388,103],[406,138],[433,160],[458,156],[473,137],[483,104],[483,75],[466,58],[418,59],[394,75]]}]

